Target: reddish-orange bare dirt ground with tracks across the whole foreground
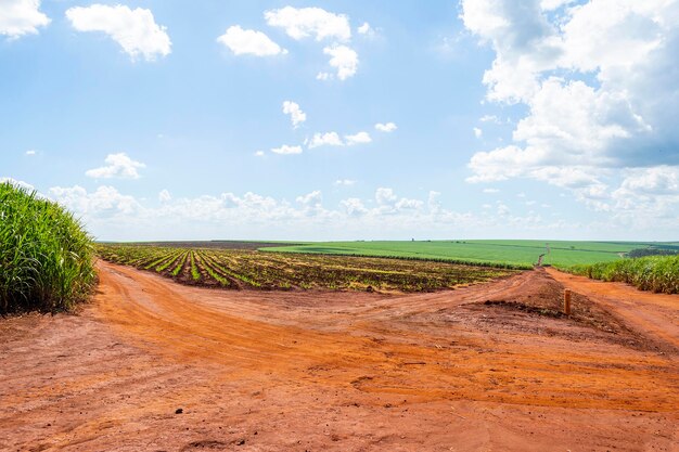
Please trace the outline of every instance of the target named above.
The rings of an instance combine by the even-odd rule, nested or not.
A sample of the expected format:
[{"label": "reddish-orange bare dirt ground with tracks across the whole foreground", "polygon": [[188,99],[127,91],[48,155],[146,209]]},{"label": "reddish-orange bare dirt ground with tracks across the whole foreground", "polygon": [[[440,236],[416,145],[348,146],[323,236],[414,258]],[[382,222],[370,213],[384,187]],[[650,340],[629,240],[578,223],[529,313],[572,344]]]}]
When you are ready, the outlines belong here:
[{"label": "reddish-orange bare dirt ground with tracks across the whole foreground", "polygon": [[[0,450],[679,443],[678,296],[558,272],[383,296],[210,290],[100,270],[79,315],[0,320]],[[591,300],[595,322],[484,304],[539,302],[560,284]]]}]

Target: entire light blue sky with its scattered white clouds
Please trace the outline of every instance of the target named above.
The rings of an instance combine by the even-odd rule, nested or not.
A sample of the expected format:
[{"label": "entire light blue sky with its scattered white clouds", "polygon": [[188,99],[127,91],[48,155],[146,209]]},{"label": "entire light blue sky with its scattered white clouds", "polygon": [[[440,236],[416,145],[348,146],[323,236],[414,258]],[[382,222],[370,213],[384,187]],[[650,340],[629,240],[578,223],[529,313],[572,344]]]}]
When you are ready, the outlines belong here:
[{"label": "entire light blue sky with its scattered white clouds", "polygon": [[0,0],[0,178],[101,240],[677,240],[678,22],[672,1]]}]

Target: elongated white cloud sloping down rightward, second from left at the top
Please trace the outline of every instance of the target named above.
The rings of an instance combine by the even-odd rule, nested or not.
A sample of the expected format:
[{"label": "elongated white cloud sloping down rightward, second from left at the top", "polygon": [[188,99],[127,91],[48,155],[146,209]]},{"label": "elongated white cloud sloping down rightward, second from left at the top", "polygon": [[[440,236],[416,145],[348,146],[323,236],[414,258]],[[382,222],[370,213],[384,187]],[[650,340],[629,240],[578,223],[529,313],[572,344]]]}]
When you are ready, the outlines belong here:
[{"label": "elongated white cloud sloping down rightward, second from left at the top", "polygon": [[66,17],[78,31],[103,31],[115,40],[132,60],[140,54],[146,61],[167,56],[171,52],[166,27],[159,26],[151,10],[125,5],[92,4],[66,11]]}]

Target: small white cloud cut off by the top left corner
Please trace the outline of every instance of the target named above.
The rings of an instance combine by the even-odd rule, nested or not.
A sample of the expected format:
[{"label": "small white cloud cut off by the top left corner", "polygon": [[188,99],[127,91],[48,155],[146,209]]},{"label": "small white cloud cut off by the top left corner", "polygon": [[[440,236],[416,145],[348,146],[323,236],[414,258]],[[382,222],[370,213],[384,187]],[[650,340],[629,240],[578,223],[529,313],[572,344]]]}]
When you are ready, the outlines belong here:
[{"label": "small white cloud cut off by the top left corner", "polygon": [[37,35],[51,20],[40,12],[40,0],[3,0],[0,2],[0,35],[17,39]]}]

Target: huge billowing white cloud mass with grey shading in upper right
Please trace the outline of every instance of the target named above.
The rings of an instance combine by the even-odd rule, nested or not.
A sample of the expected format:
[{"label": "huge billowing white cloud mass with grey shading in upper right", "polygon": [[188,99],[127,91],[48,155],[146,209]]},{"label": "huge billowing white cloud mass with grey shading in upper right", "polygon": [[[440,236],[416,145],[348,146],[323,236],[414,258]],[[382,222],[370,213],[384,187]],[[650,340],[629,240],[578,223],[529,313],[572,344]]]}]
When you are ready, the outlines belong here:
[{"label": "huge billowing white cloud mass with grey shading in upper right", "polygon": [[528,112],[470,182],[537,179],[612,209],[620,171],[679,163],[678,2],[464,0],[461,18],[496,54],[486,99]]}]

